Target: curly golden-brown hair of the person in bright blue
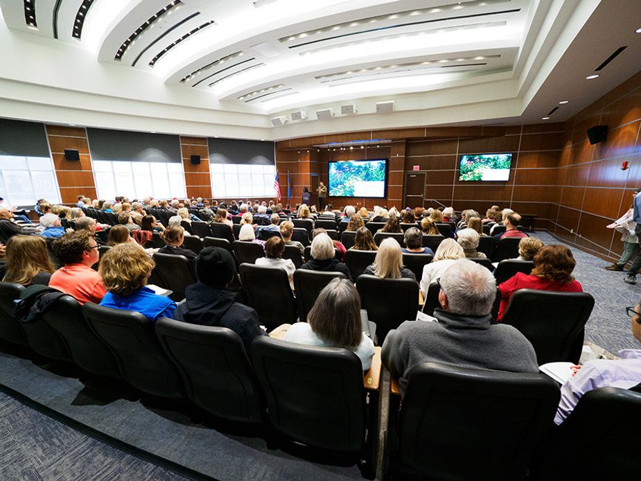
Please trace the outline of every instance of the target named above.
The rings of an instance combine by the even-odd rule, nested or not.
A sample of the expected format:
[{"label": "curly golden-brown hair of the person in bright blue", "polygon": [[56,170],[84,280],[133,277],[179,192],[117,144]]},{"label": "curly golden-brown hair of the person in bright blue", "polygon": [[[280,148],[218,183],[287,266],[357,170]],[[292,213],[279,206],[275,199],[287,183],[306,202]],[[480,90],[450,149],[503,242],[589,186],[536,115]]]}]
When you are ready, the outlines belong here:
[{"label": "curly golden-brown hair of the person in bright blue", "polygon": [[100,258],[98,273],[105,288],[127,296],[143,288],[155,263],[137,244],[118,244]]}]

